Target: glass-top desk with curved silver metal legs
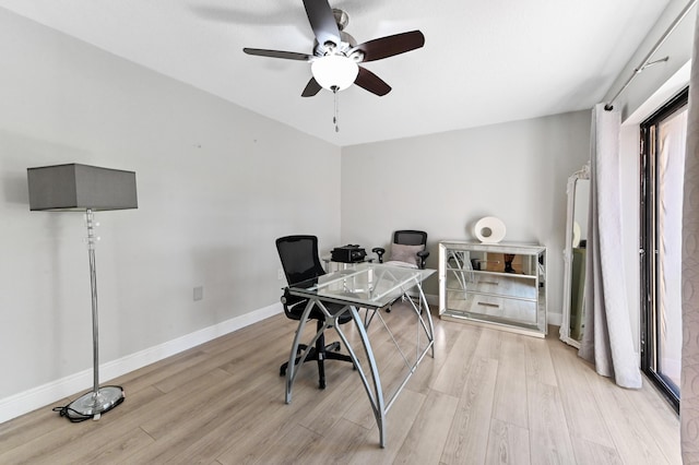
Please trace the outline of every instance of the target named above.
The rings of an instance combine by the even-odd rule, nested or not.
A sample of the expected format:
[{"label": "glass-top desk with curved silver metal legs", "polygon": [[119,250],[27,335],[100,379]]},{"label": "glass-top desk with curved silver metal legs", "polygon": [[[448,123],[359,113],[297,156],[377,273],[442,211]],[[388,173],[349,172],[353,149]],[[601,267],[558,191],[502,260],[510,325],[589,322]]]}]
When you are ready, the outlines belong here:
[{"label": "glass-top desk with curved silver metal legs", "polygon": [[[380,263],[360,263],[353,269],[342,270],[336,273],[325,274],[291,285],[289,294],[305,297],[309,300],[299,320],[294,344],[292,345],[288,368],[286,370],[285,402],[287,404],[292,402],[294,380],[304,366],[304,360],[306,360],[308,355],[307,349],[301,354],[298,365],[294,363],[301,343],[300,338],[308,321],[308,315],[313,305],[316,305],[318,309],[325,314],[325,324],[316,333],[307,346],[313,347],[316,339],[318,339],[322,331],[331,327],[335,330],[347,348],[357,373],[362,378],[379,428],[379,442],[381,448],[384,448],[386,414],[425,355],[431,350],[431,356],[435,356],[433,319],[422,287],[423,281],[433,273],[435,273],[435,270],[416,270]],[[417,291],[415,300],[410,298],[407,294],[412,289]],[[393,311],[387,313],[387,315],[382,315],[381,312],[378,311],[389,307],[396,299],[404,296],[408,297],[405,301],[410,302],[408,306],[413,310],[411,313],[414,314],[416,319],[415,325],[417,326],[417,331],[415,332],[416,336],[413,337],[416,339],[414,341],[414,353],[412,349],[404,350],[406,326],[402,323],[404,323],[405,312]],[[330,312],[325,307],[328,302],[344,305],[344,308],[340,311],[333,310],[333,312]],[[359,315],[359,309],[366,309],[364,321]],[[351,337],[353,335],[351,334],[352,331],[345,331],[342,329],[342,325],[335,324],[341,315],[347,313],[352,315],[354,322],[353,329],[356,329],[355,335],[358,335],[358,337]],[[388,318],[388,315],[390,315],[390,318]],[[381,327],[390,335],[391,342],[400,354],[399,358],[402,358],[402,363],[404,365],[404,370],[400,373],[401,377],[392,393],[387,396],[387,400],[384,400],[383,386],[381,384],[379,363],[377,363],[369,333],[367,332],[375,317],[381,322]],[[394,324],[395,332],[391,331],[392,323],[400,324]],[[399,331],[400,334],[398,334]],[[359,346],[364,348],[364,354],[356,351],[360,348]],[[411,353],[410,355],[408,351]]]}]

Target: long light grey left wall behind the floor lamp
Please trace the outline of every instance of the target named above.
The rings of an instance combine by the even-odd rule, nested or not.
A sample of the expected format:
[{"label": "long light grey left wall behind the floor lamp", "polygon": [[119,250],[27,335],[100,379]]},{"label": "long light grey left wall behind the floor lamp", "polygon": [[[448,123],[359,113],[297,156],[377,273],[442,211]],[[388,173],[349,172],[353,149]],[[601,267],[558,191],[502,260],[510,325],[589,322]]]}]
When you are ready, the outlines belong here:
[{"label": "long light grey left wall behind the floor lamp", "polygon": [[137,172],[97,216],[103,362],[279,306],[276,237],[340,242],[339,147],[2,9],[0,70],[0,404],[92,367],[84,220],[29,212],[27,167]]}]

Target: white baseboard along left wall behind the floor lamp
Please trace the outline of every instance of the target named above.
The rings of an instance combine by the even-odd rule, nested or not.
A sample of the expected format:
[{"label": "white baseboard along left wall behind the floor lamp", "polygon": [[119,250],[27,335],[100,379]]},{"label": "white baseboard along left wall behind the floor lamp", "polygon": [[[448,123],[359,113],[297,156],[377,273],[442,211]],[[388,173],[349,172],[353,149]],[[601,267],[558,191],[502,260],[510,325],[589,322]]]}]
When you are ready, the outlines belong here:
[{"label": "white baseboard along left wall behind the floor lamp", "polygon": [[[147,365],[163,360],[183,350],[204,344],[216,337],[240,330],[283,311],[281,303],[261,308],[240,317],[214,324],[209,327],[183,335],[173,341],[154,347],[128,355],[117,360],[99,365],[100,384],[109,383],[109,380],[138,370]],[[0,424],[42,408],[51,403],[59,402],[69,396],[90,391],[93,385],[93,370],[87,369],[70,374],[40,386],[0,400]],[[128,392],[127,392],[128,394]]]}]

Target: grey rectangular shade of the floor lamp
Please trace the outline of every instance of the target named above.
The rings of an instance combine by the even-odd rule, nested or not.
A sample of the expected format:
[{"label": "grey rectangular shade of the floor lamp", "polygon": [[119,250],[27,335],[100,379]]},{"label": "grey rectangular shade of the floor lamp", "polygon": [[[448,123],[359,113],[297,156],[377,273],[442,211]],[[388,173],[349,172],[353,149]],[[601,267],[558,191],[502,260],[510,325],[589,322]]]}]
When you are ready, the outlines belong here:
[{"label": "grey rectangular shade of the floor lamp", "polygon": [[29,210],[138,208],[135,172],[71,163],[27,168]]}]

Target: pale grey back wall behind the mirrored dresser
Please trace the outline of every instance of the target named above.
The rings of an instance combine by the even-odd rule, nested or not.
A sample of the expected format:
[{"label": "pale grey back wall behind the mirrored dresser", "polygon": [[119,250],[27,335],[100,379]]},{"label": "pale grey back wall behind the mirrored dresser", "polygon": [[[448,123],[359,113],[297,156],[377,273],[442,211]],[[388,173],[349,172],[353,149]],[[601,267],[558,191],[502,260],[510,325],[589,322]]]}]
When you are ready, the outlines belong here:
[{"label": "pale grey back wall behind the mirrored dresser", "polygon": [[[438,242],[474,240],[473,225],[497,216],[505,242],[548,248],[552,321],[560,322],[566,184],[590,156],[590,112],[346,147],[342,151],[342,241],[388,247],[395,229]],[[426,291],[438,294],[437,277]]]}]

